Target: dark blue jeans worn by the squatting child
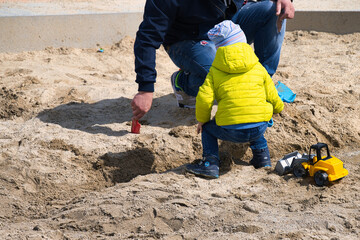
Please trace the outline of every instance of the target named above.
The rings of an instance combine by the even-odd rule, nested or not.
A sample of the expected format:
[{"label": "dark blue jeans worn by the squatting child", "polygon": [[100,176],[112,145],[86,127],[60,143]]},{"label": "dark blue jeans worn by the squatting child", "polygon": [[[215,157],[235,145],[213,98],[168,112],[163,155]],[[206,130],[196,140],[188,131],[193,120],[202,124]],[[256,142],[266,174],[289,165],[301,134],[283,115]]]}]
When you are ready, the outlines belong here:
[{"label": "dark blue jeans worn by the squatting child", "polygon": [[250,142],[251,149],[267,148],[267,141],[264,137],[267,124],[248,129],[226,129],[216,125],[215,120],[211,120],[203,125],[201,141],[203,146],[203,157],[214,156],[219,159],[218,139],[234,143]]}]

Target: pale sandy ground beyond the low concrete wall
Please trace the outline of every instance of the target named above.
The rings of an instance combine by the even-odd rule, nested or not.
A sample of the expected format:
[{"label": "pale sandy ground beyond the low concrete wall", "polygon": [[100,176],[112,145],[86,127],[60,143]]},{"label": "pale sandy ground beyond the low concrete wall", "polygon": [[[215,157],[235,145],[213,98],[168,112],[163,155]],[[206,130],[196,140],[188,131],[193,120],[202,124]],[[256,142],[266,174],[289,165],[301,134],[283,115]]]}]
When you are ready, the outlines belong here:
[{"label": "pale sandy ground beyond the low concrete wall", "polygon": [[[142,11],[145,0],[0,0],[0,16]],[[296,10],[360,11],[358,0],[295,0]]]}]

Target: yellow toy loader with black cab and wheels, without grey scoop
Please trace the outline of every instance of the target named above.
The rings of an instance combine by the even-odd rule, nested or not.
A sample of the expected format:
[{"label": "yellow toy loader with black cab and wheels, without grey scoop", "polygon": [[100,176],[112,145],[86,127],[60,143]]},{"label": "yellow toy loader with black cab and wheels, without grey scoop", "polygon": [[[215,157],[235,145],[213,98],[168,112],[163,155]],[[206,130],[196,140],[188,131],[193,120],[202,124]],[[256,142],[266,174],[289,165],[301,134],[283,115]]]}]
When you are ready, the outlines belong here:
[{"label": "yellow toy loader with black cab and wheels, without grey scoop", "polygon": [[[322,150],[326,149],[326,155]],[[312,154],[315,152],[316,155]],[[330,155],[329,147],[325,143],[317,143],[310,147],[308,159],[298,159],[293,173],[296,177],[314,177],[318,186],[328,185],[329,182],[339,180],[349,174],[343,162]]]}]

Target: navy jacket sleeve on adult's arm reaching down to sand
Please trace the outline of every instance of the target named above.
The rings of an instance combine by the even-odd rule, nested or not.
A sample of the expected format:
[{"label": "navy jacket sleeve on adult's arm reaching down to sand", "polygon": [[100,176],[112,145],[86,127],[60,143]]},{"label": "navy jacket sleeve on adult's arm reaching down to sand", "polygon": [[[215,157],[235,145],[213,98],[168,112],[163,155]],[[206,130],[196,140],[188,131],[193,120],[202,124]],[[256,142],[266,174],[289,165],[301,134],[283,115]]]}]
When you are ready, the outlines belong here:
[{"label": "navy jacket sleeve on adult's arm reaching down to sand", "polygon": [[156,49],[176,17],[178,0],[147,0],[143,21],[134,44],[136,82],[138,91],[153,92],[156,81]]}]

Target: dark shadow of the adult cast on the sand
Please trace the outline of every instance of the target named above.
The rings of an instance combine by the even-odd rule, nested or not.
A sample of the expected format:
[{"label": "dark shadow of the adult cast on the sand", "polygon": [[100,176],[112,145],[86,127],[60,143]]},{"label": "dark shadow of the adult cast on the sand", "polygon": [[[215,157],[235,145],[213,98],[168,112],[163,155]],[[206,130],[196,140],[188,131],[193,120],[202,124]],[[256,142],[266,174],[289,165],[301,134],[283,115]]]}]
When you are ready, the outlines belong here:
[{"label": "dark shadow of the adult cast on the sand", "polygon": [[[128,122],[132,118],[131,100],[120,97],[104,99],[95,103],[70,102],[46,109],[37,116],[46,123],[58,124],[63,128],[80,130],[92,134],[102,133],[108,136],[123,136],[130,127],[113,130],[109,124]],[[153,100],[151,110],[140,120],[142,125],[174,128],[195,124],[194,109],[181,109],[175,105],[172,94]]]}]

